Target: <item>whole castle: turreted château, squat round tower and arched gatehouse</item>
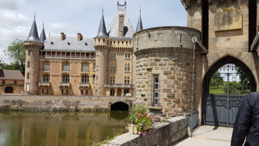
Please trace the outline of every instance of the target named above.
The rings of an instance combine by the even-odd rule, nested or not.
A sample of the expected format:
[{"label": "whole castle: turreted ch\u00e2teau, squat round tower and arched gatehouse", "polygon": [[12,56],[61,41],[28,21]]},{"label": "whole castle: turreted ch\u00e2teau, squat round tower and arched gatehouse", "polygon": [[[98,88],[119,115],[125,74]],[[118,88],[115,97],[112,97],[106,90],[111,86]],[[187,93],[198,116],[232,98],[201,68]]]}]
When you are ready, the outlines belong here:
[{"label": "whole castle: turreted ch\u00e2teau, squat round tower and arched gatehouse", "polygon": [[[50,95],[130,93],[167,117],[197,111],[196,118],[206,125],[233,126],[244,95],[259,90],[259,1],[181,2],[187,27],[142,30],[140,17],[134,31],[126,3],[117,3],[108,33],[102,15],[95,38],[61,33],[61,38],[45,39],[44,30],[38,38],[34,21],[24,42],[25,90]],[[212,86],[215,73],[223,83]]]}]

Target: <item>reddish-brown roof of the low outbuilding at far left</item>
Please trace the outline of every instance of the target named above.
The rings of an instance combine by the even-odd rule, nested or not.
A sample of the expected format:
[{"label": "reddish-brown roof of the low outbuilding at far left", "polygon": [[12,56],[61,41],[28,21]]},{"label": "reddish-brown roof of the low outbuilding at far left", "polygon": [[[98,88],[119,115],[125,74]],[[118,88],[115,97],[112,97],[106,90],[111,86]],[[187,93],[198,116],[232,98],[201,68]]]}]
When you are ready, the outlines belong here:
[{"label": "reddish-brown roof of the low outbuilding at far left", "polygon": [[19,70],[0,70],[0,80],[24,80]]}]

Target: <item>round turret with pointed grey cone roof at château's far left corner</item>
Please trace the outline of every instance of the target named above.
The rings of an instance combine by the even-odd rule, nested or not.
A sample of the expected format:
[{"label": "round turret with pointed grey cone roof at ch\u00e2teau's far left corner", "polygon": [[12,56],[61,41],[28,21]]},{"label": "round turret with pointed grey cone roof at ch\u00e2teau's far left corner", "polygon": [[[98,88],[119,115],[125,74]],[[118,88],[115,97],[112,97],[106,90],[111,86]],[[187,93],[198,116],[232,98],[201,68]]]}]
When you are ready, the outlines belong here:
[{"label": "round turret with pointed grey cone roof at ch\u00e2teau's far left corner", "polygon": [[39,49],[43,43],[39,40],[36,21],[34,19],[28,39],[23,42],[26,48],[26,68],[24,91],[38,94],[39,87]]}]

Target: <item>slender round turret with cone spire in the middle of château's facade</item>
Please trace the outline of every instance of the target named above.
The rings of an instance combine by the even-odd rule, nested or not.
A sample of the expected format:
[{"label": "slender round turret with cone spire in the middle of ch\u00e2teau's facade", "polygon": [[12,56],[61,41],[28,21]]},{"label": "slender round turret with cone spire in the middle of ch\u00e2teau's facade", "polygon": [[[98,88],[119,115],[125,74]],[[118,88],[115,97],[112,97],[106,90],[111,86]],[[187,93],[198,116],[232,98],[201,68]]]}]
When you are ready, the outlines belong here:
[{"label": "slender round turret with cone spire in the middle of ch\u00e2teau's facade", "polygon": [[108,50],[111,48],[111,39],[106,33],[104,13],[100,21],[99,30],[95,39],[96,66],[95,66],[95,88],[94,95],[106,95],[105,84],[108,80]]}]

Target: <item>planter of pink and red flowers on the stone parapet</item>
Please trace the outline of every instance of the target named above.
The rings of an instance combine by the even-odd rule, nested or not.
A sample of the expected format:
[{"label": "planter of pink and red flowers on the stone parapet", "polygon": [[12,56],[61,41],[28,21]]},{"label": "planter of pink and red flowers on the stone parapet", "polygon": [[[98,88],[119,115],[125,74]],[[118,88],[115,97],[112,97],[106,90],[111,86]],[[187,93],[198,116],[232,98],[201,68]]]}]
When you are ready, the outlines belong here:
[{"label": "planter of pink and red flowers on the stone parapet", "polygon": [[145,134],[146,130],[150,129],[154,123],[154,118],[148,114],[148,107],[144,100],[133,102],[129,119],[131,125],[128,125],[128,130],[131,134]]}]

